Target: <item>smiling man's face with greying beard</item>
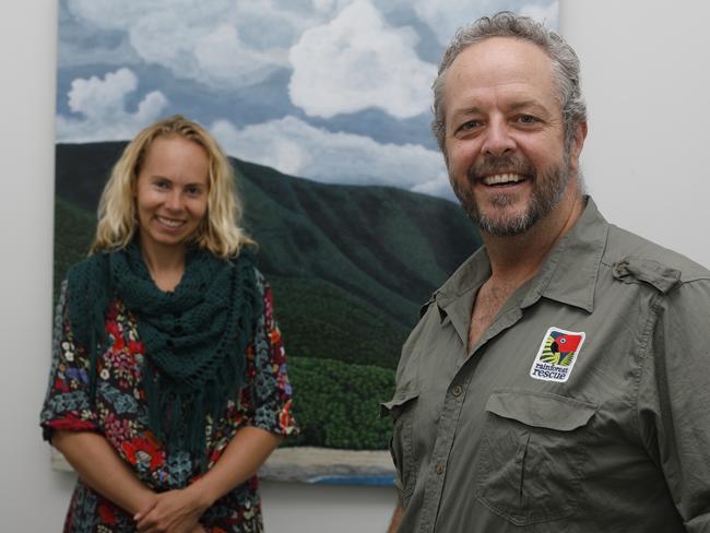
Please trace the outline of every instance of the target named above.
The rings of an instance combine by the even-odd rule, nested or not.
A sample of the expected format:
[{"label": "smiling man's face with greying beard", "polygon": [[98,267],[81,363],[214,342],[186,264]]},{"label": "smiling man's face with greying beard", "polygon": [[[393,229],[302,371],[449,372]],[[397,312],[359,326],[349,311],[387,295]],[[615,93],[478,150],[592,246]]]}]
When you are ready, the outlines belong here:
[{"label": "smiling man's face with greying beard", "polygon": [[[565,151],[553,66],[536,45],[492,37],[464,49],[443,91],[449,177],[488,234],[526,232],[576,187],[581,140]],[[580,137],[580,139],[583,135]]]}]

